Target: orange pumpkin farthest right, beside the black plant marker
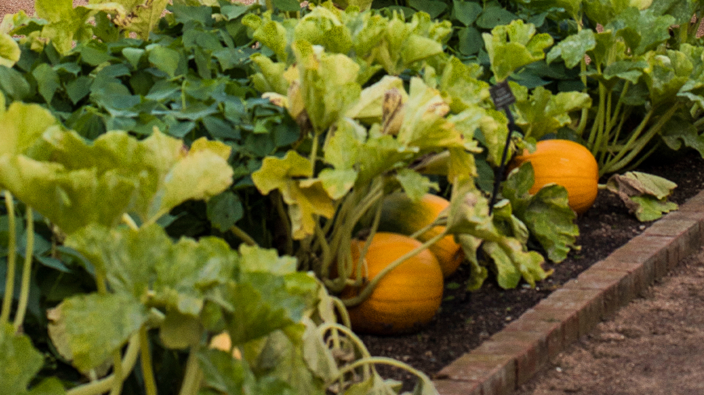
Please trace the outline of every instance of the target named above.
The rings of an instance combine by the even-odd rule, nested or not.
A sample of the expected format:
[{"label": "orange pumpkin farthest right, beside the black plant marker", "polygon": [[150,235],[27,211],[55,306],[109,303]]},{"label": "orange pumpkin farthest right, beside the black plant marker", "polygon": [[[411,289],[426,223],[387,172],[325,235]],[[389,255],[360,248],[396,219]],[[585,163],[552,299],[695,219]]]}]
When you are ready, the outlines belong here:
[{"label": "orange pumpkin farthest right, beside the black plant marker", "polygon": [[548,183],[567,189],[570,207],[582,214],[586,212],[598,193],[599,166],[584,145],[569,140],[543,140],[534,153],[524,151],[515,157],[513,167],[531,162],[535,183],[529,192],[534,194]]}]

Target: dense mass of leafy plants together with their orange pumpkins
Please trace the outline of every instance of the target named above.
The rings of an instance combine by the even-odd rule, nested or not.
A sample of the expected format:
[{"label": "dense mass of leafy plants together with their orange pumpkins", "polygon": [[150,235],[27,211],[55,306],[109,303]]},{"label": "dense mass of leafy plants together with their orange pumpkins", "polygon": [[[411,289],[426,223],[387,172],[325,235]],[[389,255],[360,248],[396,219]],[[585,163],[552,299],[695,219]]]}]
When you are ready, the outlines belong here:
[{"label": "dense mass of leafy plants together with their orange pumpkins", "polygon": [[596,188],[657,219],[674,185],[616,173],[704,155],[695,1],[172,3],[0,23],[8,395],[436,394],[352,330],[422,328],[459,264],[535,286]]}]

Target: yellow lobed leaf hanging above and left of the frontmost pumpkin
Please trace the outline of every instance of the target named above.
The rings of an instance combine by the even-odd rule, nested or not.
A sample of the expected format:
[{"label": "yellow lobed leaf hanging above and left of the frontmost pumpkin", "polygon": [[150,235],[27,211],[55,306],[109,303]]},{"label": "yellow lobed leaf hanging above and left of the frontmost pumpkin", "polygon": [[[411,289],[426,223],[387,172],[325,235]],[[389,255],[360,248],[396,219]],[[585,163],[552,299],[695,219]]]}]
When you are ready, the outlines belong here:
[{"label": "yellow lobed leaf hanging above and left of the frontmost pumpkin", "polygon": [[278,189],[282,194],[289,205],[292,233],[298,240],[313,234],[317,215],[328,219],[334,215],[332,199],[320,180],[297,179],[310,177],[312,173],[310,162],[290,150],[283,159],[265,157],[261,169],[252,174],[254,185],[261,193],[268,195]]}]

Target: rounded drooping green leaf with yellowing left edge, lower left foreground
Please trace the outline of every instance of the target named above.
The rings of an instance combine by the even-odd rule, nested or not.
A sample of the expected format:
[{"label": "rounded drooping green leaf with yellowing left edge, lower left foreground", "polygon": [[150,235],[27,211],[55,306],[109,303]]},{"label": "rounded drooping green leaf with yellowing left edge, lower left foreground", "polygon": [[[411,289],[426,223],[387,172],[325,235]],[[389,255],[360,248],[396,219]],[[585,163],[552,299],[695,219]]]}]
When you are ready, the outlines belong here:
[{"label": "rounded drooping green leaf with yellowing left edge, lower left foreground", "polygon": [[101,365],[139,330],[147,317],[146,307],[129,294],[93,293],[65,299],[61,320],[73,363],[85,371]]}]

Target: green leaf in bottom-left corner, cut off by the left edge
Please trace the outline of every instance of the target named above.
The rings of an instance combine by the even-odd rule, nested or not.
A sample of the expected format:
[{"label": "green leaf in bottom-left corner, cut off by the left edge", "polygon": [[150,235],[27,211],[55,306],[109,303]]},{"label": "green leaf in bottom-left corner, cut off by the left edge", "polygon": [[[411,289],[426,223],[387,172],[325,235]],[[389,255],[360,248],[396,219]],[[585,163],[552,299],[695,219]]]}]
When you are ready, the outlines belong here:
[{"label": "green leaf in bottom-left corner, cut off by the left edge", "polygon": [[27,385],[43,364],[44,357],[34,349],[30,337],[15,335],[10,324],[0,328],[0,387],[4,394],[26,394]]}]

